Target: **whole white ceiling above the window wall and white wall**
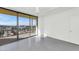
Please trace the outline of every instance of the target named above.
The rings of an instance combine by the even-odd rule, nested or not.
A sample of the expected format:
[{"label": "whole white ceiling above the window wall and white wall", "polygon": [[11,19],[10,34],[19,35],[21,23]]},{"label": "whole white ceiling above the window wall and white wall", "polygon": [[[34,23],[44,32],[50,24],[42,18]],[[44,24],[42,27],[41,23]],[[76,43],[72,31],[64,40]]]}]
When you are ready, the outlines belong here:
[{"label": "whole white ceiling above the window wall and white wall", "polygon": [[60,13],[73,7],[4,7],[7,9],[35,15],[35,16],[45,16],[49,14]]}]

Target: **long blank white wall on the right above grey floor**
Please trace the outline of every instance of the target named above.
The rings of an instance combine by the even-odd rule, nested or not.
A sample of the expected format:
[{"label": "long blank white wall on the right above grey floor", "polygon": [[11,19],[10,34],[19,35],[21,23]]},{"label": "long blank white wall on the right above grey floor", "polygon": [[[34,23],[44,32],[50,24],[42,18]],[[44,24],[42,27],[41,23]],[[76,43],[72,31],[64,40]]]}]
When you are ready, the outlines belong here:
[{"label": "long blank white wall on the right above grey floor", "polygon": [[51,12],[43,17],[43,21],[44,34],[79,44],[79,8],[68,8],[54,14]]}]

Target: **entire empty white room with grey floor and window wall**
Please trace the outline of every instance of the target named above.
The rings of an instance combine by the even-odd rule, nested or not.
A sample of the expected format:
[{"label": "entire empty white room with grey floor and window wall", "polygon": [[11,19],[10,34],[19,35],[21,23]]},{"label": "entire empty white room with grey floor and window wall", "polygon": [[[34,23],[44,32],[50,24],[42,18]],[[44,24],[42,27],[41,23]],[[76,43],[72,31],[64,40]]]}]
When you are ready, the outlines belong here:
[{"label": "entire empty white room with grey floor and window wall", "polygon": [[79,51],[79,7],[0,7],[0,51]]}]

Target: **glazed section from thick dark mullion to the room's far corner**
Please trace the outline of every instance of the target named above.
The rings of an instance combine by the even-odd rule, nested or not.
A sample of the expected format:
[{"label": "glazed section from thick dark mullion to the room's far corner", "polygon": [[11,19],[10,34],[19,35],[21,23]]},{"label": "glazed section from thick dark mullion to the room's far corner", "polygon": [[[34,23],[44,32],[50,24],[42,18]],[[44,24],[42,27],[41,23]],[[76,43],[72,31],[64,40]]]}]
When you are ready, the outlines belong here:
[{"label": "glazed section from thick dark mullion to the room's far corner", "polygon": [[19,38],[37,35],[37,17],[18,14]]}]

